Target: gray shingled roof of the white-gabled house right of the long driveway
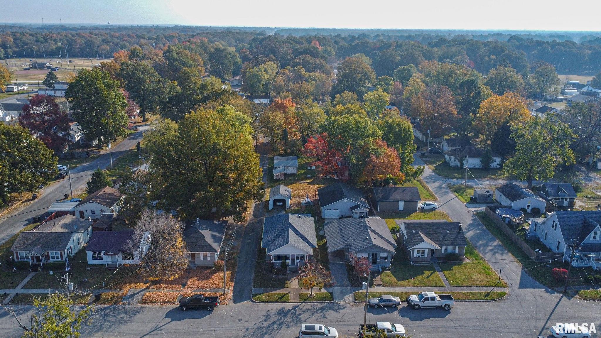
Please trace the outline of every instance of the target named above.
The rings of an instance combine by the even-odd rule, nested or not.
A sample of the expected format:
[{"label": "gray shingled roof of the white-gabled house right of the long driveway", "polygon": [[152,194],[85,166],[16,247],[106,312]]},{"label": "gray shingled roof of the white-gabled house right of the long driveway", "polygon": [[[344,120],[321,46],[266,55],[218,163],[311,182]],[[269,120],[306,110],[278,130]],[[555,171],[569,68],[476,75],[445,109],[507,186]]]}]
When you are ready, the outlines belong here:
[{"label": "gray shingled roof of the white-gabled house right of the long driveway", "polygon": [[315,221],[310,214],[280,214],[266,217],[261,248],[267,253],[292,244],[306,252],[317,248]]}]

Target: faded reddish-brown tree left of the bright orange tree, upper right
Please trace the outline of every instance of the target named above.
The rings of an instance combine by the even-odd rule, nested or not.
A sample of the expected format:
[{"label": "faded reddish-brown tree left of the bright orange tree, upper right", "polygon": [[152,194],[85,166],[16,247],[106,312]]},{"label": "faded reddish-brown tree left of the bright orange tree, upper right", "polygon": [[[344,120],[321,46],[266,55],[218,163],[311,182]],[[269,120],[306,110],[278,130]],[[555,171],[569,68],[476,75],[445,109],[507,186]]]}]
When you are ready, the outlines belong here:
[{"label": "faded reddish-brown tree left of the bright orange tree, upper right", "polygon": [[419,118],[423,131],[432,128],[431,135],[444,136],[457,123],[457,108],[451,90],[445,86],[430,86],[411,100],[410,114]]}]

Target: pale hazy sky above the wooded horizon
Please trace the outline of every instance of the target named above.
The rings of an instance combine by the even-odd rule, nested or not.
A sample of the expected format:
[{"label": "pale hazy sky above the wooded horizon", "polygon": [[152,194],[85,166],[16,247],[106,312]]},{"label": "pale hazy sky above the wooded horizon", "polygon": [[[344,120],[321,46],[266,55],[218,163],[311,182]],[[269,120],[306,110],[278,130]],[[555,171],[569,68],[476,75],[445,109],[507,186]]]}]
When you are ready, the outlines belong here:
[{"label": "pale hazy sky above the wooded horizon", "polygon": [[0,22],[601,31],[601,1],[0,0]]}]

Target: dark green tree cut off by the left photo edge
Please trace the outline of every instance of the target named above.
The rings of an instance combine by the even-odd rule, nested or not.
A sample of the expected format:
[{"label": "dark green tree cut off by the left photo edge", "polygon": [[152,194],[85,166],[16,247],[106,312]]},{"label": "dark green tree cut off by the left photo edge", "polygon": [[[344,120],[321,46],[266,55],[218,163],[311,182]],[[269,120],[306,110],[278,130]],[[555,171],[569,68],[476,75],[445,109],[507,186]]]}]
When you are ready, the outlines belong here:
[{"label": "dark green tree cut off by the left photo edge", "polygon": [[53,179],[58,161],[52,150],[18,125],[0,123],[0,204],[8,203],[8,194],[37,191]]}]

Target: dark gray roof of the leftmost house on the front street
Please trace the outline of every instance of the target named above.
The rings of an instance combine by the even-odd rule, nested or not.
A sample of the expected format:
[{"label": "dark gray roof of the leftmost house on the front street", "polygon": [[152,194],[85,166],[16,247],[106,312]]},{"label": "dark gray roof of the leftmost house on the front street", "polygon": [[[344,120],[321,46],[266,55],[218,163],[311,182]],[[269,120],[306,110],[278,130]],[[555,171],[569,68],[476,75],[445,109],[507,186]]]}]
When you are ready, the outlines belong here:
[{"label": "dark gray roof of the leftmost house on the front street", "polygon": [[40,247],[43,251],[64,251],[71,241],[70,232],[24,231],[14,241],[11,251],[32,251]]}]

